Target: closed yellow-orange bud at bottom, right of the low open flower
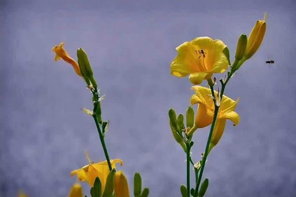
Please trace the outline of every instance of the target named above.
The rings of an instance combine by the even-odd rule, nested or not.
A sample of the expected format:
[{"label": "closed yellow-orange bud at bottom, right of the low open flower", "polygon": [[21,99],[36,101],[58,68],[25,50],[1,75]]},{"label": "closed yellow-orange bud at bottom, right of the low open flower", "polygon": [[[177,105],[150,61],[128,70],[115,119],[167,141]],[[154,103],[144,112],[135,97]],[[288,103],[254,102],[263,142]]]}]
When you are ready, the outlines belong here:
[{"label": "closed yellow-orange bud at bottom, right of the low open flower", "polygon": [[114,192],[116,197],[129,197],[128,183],[122,171],[115,173]]}]

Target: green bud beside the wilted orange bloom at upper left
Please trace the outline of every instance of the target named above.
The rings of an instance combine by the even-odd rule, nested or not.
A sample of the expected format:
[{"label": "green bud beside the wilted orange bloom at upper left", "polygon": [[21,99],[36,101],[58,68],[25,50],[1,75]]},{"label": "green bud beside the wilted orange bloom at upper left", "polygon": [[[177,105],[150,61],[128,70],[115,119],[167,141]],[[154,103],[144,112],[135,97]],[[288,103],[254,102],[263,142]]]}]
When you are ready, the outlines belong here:
[{"label": "green bud beside the wilted orange bloom at upper left", "polygon": [[93,71],[92,71],[92,68],[89,64],[87,54],[82,48],[77,49],[77,58],[78,58],[78,65],[79,65],[79,68],[81,71],[81,75],[84,78],[86,78],[85,81],[87,81],[87,79],[89,79],[91,84],[93,85],[93,87],[97,88],[98,87],[97,82],[94,79]]}]

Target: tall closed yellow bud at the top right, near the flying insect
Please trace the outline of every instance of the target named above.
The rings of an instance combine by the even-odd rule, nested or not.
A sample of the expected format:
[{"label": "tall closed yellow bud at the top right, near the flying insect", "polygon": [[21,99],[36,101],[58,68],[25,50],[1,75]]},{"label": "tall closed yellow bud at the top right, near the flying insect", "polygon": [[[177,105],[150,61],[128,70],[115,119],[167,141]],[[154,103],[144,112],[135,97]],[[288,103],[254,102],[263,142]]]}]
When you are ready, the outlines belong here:
[{"label": "tall closed yellow bud at the top right, near the flying insect", "polygon": [[255,52],[259,49],[259,46],[263,40],[265,30],[266,30],[266,12],[264,13],[263,20],[256,21],[249,37],[247,43],[247,49],[245,52],[244,60],[251,58]]}]

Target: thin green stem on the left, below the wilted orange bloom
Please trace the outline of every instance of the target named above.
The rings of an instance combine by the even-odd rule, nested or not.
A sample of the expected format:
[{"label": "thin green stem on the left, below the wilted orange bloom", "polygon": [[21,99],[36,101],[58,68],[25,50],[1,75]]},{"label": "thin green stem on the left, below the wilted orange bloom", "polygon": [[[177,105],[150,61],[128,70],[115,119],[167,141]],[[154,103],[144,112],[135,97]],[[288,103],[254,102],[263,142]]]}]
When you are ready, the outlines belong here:
[{"label": "thin green stem on the left, below the wilted orange bloom", "polygon": [[94,118],[96,126],[97,126],[97,130],[98,130],[100,141],[101,141],[101,144],[102,144],[102,147],[103,147],[103,151],[104,151],[107,163],[108,163],[109,170],[111,171],[112,170],[111,162],[110,162],[108,151],[107,151],[107,148],[106,148],[104,135],[103,135],[103,133],[101,131],[100,123],[99,123],[99,120],[98,120],[98,118],[100,118],[100,120],[101,120],[101,114],[97,114],[98,111],[100,111],[100,113],[101,113],[99,94],[98,94],[97,89],[92,89],[92,93],[93,93],[93,97],[94,97],[94,99],[93,99],[93,102],[94,102],[93,118]]}]

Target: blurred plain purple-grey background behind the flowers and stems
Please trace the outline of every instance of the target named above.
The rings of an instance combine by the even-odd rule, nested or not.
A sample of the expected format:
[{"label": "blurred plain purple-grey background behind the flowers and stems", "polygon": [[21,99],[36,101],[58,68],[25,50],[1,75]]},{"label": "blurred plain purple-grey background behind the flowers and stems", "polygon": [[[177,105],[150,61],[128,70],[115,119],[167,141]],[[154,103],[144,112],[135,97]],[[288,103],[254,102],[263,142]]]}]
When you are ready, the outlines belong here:
[{"label": "blurred plain purple-grey background behind the flowers and stems", "polygon": [[[256,55],[229,82],[240,97],[241,123],[230,122],[208,158],[209,197],[296,196],[296,1],[294,0],[1,0],[0,197],[65,197],[69,173],[104,160],[92,118],[91,94],[73,68],[54,62],[65,42],[83,47],[106,94],[111,158],[130,181],[141,172],[150,197],[180,197],[185,153],[174,141],[167,111],[185,113],[188,79],[170,75],[175,47],[196,36],[222,39],[233,57],[239,34],[267,12]],[[275,60],[266,65],[267,59]],[[209,128],[194,135],[194,161]],[[192,183],[193,184],[193,179]],[[83,184],[89,196],[89,187]]]}]

